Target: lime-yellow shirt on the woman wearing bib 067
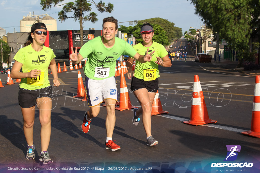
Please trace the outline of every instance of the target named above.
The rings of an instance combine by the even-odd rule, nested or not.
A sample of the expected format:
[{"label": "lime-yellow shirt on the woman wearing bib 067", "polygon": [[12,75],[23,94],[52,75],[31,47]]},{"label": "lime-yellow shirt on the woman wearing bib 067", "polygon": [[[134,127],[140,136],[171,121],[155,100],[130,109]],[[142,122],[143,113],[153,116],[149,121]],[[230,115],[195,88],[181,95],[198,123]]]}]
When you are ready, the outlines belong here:
[{"label": "lime-yellow shirt on the woman wearing bib 067", "polygon": [[151,59],[151,61],[149,61],[149,62],[147,61],[146,63],[140,63],[139,61],[136,61],[134,77],[136,77],[138,79],[144,79],[144,73],[143,73],[144,70],[156,68],[157,69],[156,75],[157,75],[157,78],[159,78],[160,75],[159,75],[158,64],[156,64],[154,61],[157,61],[156,57],[160,57],[160,58],[165,57],[166,55],[168,55],[168,52],[166,51],[166,49],[163,45],[156,43],[155,41],[153,41],[153,44],[150,47],[145,47],[141,43],[134,45],[135,51],[141,55],[146,54],[147,48],[149,48],[148,53],[155,51],[152,54],[152,59]]}]

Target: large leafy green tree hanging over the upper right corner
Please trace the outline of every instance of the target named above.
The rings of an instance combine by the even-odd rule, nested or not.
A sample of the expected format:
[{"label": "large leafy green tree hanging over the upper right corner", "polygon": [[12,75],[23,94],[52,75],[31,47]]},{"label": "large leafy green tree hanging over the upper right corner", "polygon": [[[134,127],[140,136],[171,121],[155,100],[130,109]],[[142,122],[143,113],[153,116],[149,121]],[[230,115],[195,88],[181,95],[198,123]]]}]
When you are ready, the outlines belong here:
[{"label": "large leafy green tree hanging over the upper right corner", "polygon": [[[249,38],[259,31],[259,0],[191,0],[196,14],[201,16],[207,27],[219,38],[224,38],[235,50],[247,52]],[[238,57],[242,59],[242,55]]]}]

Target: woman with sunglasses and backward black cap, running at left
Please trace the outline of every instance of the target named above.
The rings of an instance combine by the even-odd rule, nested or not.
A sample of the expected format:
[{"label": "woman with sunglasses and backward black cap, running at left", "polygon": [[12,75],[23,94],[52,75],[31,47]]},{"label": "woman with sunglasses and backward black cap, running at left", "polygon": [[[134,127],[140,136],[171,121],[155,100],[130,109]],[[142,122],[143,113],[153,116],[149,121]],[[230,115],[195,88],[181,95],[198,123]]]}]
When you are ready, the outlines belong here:
[{"label": "woman with sunglasses and backward black cap, running at left", "polygon": [[[48,153],[51,134],[51,100],[52,86],[48,78],[48,67],[53,74],[54,86],[59,86],[55,55],[49,47],[43,46],[47,36],[47,28],[44,23],[35,23],[31,26],[28,46],[20,49],[15,57],[11,78],[20,79],[18,102],[23,115],[23,130],[27,141],[28,160],[34,159],[35,145],[33,142],[33,125],[35,106],[39,109],[41,123],[41,153],[40,161],[43,164],[53,163]],[[22,72],[20,72],[22,68]]]}]

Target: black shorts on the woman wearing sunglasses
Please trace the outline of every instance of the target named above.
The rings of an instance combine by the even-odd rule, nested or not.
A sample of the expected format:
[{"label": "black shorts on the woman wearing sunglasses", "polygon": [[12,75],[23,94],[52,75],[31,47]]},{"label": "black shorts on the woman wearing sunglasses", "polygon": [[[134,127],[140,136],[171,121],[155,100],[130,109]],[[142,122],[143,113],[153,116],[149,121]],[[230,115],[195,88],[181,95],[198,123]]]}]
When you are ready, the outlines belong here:
[{"label": "black shorts on the woman wearing sunglasses", "polygon": [[30,108],[35,106],[36,99],[42,97],[52,99],[52,86],[35,90],[19,88],[18,102],[22,108]]}]

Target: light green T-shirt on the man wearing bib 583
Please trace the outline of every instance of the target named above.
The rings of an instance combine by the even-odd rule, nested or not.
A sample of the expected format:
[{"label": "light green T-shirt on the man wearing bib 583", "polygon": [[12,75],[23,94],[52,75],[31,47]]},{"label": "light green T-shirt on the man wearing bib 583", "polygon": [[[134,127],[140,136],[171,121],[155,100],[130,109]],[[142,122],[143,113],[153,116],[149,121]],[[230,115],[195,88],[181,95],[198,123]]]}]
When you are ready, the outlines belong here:
[{"label": "light green T-shirt on the man wearing bib 583", "polygon": [[83,58],[88,57],[84,67],[85,75],[94,80],[103,80],[115,76],[116,59],[121,55],[134,56],[134,48],[125,40],[115,37],[115,44],[107,48],[101,37],[96,37],[85,43],[79,53]]}]

